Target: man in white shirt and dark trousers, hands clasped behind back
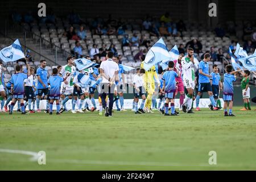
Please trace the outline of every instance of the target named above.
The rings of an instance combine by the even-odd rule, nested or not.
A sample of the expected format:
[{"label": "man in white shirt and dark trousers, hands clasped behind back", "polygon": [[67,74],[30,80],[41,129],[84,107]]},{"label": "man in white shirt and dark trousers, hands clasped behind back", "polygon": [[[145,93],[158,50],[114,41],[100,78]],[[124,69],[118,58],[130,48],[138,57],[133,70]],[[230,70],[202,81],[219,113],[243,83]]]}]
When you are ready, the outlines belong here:
[{"label": "man in white shirt and dark trousers, hands clasped behind back", "polygon": [[[105,109],[105,116],[112,117],[112,109],[114,104],[114,89],[115,81],[119,80],[118,64],[115,63],[112,58],[114,53],[109,51],[106,55],[106,61],[102,61],[100,65],[100,72],[102,77],[102,83],[100,85],[100,93],[102,106]],[[106,106],[106,95],[109,95],[109,107]]]}]

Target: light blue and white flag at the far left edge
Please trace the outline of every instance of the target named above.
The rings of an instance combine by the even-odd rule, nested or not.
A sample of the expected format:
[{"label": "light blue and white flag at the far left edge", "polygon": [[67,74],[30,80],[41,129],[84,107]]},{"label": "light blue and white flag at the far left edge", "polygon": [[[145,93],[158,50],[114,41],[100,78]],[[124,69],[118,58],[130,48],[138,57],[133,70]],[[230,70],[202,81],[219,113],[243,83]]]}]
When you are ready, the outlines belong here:
[{"label": "light blue and white flag at the far left edge", "polygon": [[25,55],[20,46],[19,39],[16,39],[11,46],[5,47],[0,51],[0,59],[3,62],[13,62],[25,58]]}]

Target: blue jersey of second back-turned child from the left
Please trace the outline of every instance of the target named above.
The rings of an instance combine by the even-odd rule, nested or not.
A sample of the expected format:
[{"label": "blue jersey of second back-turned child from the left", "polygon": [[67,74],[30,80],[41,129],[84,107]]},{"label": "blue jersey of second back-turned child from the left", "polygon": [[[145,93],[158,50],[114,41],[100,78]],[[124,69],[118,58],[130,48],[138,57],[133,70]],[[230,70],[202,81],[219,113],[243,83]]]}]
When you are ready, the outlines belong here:
[{"label": "blue jersey of second back-turned child from the left", "polygon": [[48,84],[51,86],[49,90],[50,97],[59,97],[60,96],[60,84],[64,81],[63,77],[58,75],[50,76],[48,79]]}]

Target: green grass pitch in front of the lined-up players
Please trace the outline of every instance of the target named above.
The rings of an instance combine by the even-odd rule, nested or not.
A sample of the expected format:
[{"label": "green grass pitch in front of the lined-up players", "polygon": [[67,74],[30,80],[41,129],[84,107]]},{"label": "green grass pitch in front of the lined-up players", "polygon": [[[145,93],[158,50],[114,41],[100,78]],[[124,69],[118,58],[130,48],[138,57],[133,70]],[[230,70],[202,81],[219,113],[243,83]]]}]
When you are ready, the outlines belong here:
[{"label": "green grass pitch in front of the lined-up players", "polygon": [[[46,152],[46,165],[0,152],[0,169],[255,170],[256,111],[239,109],[236,117],[209,109],[178,117],[0,113],[0,149]],[[208,163],[209,151],[216,151],[216,165]]]}]

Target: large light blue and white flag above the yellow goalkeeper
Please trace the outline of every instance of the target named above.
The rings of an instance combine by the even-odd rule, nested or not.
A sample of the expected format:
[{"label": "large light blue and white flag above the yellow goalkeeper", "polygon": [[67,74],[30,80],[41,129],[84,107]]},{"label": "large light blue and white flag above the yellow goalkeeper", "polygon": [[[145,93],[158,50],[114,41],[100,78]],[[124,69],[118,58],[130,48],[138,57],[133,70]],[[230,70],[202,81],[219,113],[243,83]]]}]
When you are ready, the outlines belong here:
[{"label": "large light blue and white flag above the yellow goalkeeper", "polygon": [[155,65],[156,63],[159,63],[161,61],[168,61],[170,59],[171,55],[168,52],[166,43],[164,43],[163,39],[160,38],[158,42],[156,42],[154,46],[152,46],[147,52],[144,60],[144,69],[148,71],[148,69],[150,69],[152,65]]}]

